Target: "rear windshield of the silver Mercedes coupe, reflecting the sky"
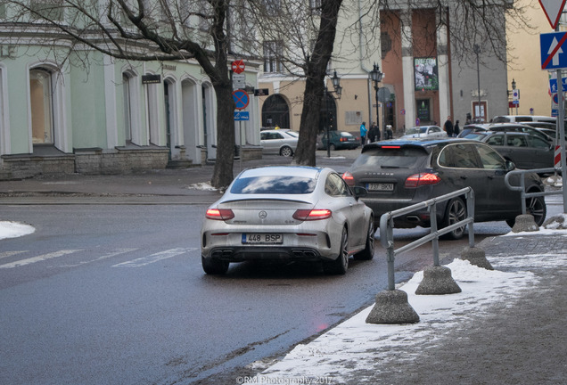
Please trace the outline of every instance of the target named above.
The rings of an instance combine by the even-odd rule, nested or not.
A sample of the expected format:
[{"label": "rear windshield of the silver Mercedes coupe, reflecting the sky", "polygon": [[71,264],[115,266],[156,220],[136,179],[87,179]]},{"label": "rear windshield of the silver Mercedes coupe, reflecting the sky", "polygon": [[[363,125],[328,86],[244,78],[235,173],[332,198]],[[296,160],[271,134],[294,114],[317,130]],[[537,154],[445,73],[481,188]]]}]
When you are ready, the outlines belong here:
[{"label": "rear windshield of the silver Mercedes coupe, reflecting the sky", "polygon": [[305,194],[313,193],[316,180],[304,176],[253,176],[234,181],[230,189],[237,194]]}]

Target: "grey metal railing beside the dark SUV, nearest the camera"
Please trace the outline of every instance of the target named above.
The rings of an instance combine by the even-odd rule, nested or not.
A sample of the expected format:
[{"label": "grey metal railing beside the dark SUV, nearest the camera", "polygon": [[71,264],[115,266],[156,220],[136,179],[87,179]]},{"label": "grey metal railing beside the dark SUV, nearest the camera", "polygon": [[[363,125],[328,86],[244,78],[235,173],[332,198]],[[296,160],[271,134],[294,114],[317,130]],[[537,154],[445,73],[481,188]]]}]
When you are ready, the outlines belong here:
[{"label": "grey metal railing beside the dark SUV, nearest the camera", "polygon": [[[449,201],[456,197],[463,196],[466,199],[466,212],[467,217],[463,220],[454,223],[453,225],[448,225],[442,229],[438,229],[437,226],[437,204],[443,201]],[[423,236],[422,238],[408,243],[405,246],[400,247],[398,250],[394,250],[394,218],[401,217],[405,214],[410,214],[418,209],[428,209],[431,217],[431,231],[429,234]],[[380,242],[382,246],[387,250],[387,260],[388,260],[388,290],[393,291],[396,289],[396,282],[394,278],[394,260],[397,255],[414,250],[415,248],[423,245],[427,242],[432,242],[433,247],[433,265],[440,266],[439,260],[439,237],[443,234],[450,233],[453,230],[463,227],[464,225],[469,225],[469,245],[474,247],[474,192],[471,187],[465,187],[464,189],[457,190],[453,193],[448,193],[441,195],[436,198],[432,198],[428,201],[423,201],[416,203],[415,205],[408,206],[407,208],[397,209],[394,211],[389,211],[380,217]]]}]

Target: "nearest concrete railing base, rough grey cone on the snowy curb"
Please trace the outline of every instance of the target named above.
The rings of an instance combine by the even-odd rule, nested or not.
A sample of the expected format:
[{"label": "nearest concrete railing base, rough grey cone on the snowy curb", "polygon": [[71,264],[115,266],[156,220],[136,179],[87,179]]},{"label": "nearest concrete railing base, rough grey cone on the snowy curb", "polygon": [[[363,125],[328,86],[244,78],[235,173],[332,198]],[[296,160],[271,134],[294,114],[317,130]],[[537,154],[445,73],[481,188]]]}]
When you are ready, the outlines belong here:
[{"label": "nearest concrete railing base, rough grey cone on the snowy curb", "polygon": [[366,317],[366,324],[416,324],[419,315],[409,302],[407,292],[382,291],[376,294],[376,303]]}]

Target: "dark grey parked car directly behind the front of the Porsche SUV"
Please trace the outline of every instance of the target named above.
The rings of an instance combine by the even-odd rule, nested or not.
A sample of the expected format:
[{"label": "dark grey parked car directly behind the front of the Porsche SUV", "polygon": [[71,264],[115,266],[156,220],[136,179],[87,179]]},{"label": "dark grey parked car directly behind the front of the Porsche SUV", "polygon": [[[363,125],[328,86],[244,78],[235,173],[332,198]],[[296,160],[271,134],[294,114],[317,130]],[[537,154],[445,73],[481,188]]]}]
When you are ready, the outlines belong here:
[{"label": "dark grey parked car directly behind the front of the Porsche SUV", "polygon": [[519,132],[487,132],[480,139],[518,168],[554,167],[555,147],[546,140]]}]

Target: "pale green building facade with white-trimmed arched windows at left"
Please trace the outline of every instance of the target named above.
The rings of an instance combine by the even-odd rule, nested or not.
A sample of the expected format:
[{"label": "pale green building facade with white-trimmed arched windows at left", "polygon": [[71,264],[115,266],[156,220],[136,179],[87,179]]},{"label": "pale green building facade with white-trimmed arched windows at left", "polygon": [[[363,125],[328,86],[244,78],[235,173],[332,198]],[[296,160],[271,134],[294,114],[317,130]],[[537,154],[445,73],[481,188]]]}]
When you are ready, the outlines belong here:
[{"label": "pale green building facade with white-trimmed arched windows at left", "polygon": [[[8,22],[14,11],[5,7],[0,14]],[[62,12],[62,22],[67,16]],[[18,33],[0,20],[0,177],[117,174],[215,160],[216,96],[196,61],[116,60],[45,23],[29,25]],[[248,63],[247,84],[256,85],[258,70],[259,63]],[[258,148],[257,104],[247,111],[250,120],[234,128],[243,145]]]}]

